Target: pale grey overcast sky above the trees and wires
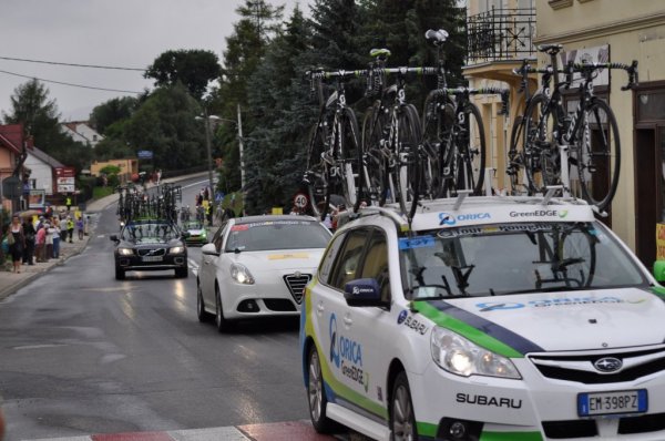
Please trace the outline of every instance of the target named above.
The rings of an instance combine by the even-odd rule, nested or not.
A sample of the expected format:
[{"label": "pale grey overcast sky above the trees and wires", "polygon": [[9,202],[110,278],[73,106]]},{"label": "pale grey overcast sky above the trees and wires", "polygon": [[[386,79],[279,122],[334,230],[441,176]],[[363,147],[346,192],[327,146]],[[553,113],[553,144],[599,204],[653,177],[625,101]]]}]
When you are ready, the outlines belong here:
[{"label": "pale grey overcast sky above the trees and wires", "polygon": [[[296,3],[308,13],[307,0]],[[31,78],[44,81],[63,121],[86,120],[95,105],[153,85],[142,72],[71,68],[6,58],[145,69],[164,51],[204,49],[222,61],[225,38],[244,0],[0,0],[0,111],[9,113],[14,89]],[[17,76],[24,75],[24,76]]]}]

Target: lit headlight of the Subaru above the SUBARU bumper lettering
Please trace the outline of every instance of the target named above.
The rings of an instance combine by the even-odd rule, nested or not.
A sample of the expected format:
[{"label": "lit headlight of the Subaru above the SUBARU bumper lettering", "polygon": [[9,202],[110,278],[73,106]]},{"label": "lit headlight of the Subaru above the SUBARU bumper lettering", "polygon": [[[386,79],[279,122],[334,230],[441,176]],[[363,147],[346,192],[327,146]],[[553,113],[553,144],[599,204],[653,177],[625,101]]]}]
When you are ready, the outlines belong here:
[{"label": "lit headlight of the Subaru above the SUBARU bumper lettering", "polygon": [[462,377],[488,376],[521,379],[510,359],[489,351],[451,330],[436,327],[431,339],[432,358],[440,368]]}]

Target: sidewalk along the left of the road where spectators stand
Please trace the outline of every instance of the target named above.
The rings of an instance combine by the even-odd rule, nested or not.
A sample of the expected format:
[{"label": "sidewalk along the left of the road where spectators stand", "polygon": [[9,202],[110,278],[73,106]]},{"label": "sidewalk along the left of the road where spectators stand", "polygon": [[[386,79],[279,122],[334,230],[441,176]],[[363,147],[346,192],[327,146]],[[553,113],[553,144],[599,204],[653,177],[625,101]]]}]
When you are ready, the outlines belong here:
[{"label": "sidewalk along the left of the road where spectators stand", "polygon": [[[178,182],[178,181],[188,180],[188,178],[195,177],[195,176],[207,176],[207,172],[197,173],[197,174],[187,175],[187,176],[172,177],[172,178],[164,180],[163,182],[164,183],[174,183],[174,182]],[[149,188],[151,188],[152,186],[154,186],[154,185],[149,185]],[[117,193],[114,193],[106,197],[102,197],[101,199],[93,201],[92,203],[88,204],[84,215],[101,212],[109,205],[116,202],[117,197],[119,197]],[[92,225],[89,225],[88,236],[83,236],[83,240],[79,240],[79,238],[74,234],[73,244],[70,244],[69,242],[68,243],[61,242],[60,243],[60,258],[49,259],[48,261],[41,263],[41,264],[35,263],[34,265],[21,265],[21,273],[19,273],[19,274],[16,274],[12,271],[0,270],[0,301],[2,301],[4,298],[7,298],[10,295],[12,295],[13,293],[16,293],[23,286],[30,284],[32,280],[34,280],[37,277],[39,277],[41,274],[50,270],[51,268],[53,268],[58,265],[64,265],[66,259],[83,252],[83,249],[85,249],[85,246],[88,246],[88,242],[94,234],[94,225],[95,225],[95,223],[92,223]]]}]

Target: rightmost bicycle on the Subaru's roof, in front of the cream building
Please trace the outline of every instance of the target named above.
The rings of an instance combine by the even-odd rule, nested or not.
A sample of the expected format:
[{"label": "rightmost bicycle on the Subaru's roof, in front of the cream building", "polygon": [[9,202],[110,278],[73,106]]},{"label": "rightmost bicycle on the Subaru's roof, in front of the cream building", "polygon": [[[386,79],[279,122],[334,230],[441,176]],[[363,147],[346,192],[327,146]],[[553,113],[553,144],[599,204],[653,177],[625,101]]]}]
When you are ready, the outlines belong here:
[{"label": "rightmost bicycle on the Subaru's roof, in front of the cream building", "polygon": [[[515,164],[524,167],[529,194],[544,193],[550,185],[563,185],[564,195],[581,197],[603,213],[618,184],[621,141],[614,112],[594,95],[593,80],[602,69],[621,69],[628,74],[622,90],[633,89],[638,82],[637,61],[631,64],[569,62],[559,70],[556,55],[561,49],[560,44],[539,47],[551,58],[554,88],[551,96],[536,93],[526,106],[521,129],[523,143],[514,147],[520,157]],[[524,66],[522,74],[534,71]],[[564,81],[559,73],[565,75]],[[571,86],[575,73],[581,74],[577,106],[569,115],[562,105],[562,90]]]}]

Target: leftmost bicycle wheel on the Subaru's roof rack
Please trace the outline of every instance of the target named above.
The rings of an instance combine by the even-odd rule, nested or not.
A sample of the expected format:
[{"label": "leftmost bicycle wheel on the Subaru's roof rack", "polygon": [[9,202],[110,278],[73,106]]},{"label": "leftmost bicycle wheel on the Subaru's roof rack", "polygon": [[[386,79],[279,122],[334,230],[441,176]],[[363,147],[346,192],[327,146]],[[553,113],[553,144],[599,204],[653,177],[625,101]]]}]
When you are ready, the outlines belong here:
[{"label": "leftmost bicycle wheel on the Subaru's roof rack", "polygon": [[309,136],[309,152],[307,155],[307,170],[305,172],[305,182],[309,193],[309,203],[315,217],[321,221],[328,213],[328,203],[330,201],[330,188],[328,186],[328,167],[324,161],[326,151],[326,132],[321,124],[311,127]]}]

